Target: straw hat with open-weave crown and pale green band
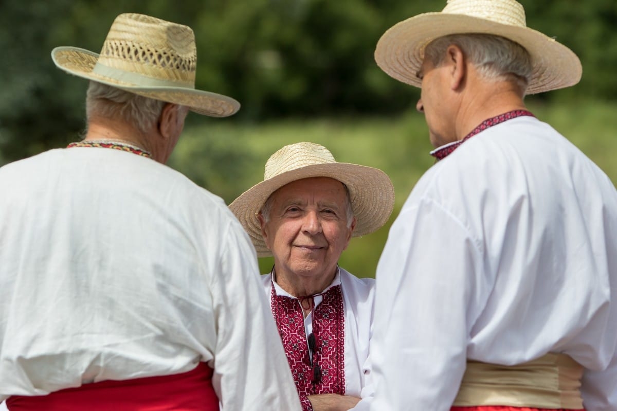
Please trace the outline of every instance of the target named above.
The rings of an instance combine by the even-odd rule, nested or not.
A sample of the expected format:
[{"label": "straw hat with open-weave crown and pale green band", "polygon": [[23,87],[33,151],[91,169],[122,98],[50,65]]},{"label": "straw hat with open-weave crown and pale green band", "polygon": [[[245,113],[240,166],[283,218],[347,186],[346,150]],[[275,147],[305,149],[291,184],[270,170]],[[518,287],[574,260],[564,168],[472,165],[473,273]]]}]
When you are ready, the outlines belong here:
[{"label": "straw hat with open-weave crown and pale green band", "polygon": [[226,117],[240,108],[233,98],[195,89],[197,51],[193,30],[148,15],[118,15],[101,54],[57,47],[51,58],[70,74],[188,106],[199,114]]}]

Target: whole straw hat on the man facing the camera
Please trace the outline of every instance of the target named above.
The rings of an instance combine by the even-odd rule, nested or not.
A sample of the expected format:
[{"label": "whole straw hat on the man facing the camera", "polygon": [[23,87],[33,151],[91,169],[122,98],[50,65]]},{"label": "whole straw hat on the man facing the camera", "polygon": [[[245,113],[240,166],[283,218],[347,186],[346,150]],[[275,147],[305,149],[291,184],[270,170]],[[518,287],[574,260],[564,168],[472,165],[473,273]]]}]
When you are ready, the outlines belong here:
[{"label": "whole straw hat on the man facing the camera", "polygon": [[257,219],[263,204],[277,189],[310,177],[330,177],[347,186],[356,219],[354,237],[377,230],[392,213],[394,188],[386,173],[364,165],[337,163],[331,152],[319,144],[290,144],[270,156],[263,181],[230,204],[231,211],[249,233],[259,257],[272,255],[263,241]]}]

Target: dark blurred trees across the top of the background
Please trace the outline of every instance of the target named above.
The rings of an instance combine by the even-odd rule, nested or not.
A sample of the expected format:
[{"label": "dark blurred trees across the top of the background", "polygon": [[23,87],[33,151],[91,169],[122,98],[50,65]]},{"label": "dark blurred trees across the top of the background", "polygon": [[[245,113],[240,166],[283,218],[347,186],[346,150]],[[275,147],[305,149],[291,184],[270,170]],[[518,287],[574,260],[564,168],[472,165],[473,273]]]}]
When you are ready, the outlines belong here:
[{"label": "dark blurred trees across the top of the background", "polygon": [[[521,0],[528,25],[583,62],[581,85],[545,101],[617,98],[614,0]],[[59,147],[83,128],[85,80],[54,67],[60,45],[98,51],[114,17],[141,12],[193,27],[196,86],[242,103],[233,121],[397,114],[418,89],[381,72],[379,36],[445,0],[4,0],[0,6],[0,164]],[[197,121],[189,117],[189,123]],[[201,121],[201,120],[200,120]]]}]

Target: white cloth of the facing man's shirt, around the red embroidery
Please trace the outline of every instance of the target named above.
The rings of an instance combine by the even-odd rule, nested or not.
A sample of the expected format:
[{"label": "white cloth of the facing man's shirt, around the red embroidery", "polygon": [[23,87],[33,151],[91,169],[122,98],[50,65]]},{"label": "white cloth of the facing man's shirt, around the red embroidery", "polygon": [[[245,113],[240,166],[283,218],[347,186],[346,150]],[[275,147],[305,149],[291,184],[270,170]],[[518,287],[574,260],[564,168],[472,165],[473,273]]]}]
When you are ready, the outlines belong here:
[{"label": "white cloth of the facing man's shirt, around the red embroidery", "polygon": [[[272,283],[271,275],[262,275],[265,293],[270,299]],[[332,283],[323,290],[341,284],[344,313],[344,370],[345,370],[345,394],[347,396],[366,397],[373,394],[370,383],[370,339],[373,328],[373,303],[375,301],[375,280],[373,278],[358,278],[338,268]],[[274,283],[277,296],[294,298],[291,294]],[[320,304],[321,296],[316,296],[315,307]],[[271,312],[271,311],[270,311]],[[304,327],[307,335],[312,333],[312,313],[304,318]]]}]

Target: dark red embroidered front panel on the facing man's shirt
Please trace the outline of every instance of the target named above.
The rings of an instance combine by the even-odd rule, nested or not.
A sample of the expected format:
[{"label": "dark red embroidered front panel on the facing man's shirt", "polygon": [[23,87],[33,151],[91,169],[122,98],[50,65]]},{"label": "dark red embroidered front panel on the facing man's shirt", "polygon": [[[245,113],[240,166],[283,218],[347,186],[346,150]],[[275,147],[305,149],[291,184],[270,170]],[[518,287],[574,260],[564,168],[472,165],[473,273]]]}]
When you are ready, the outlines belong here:
[{"label": "dark red embroidered front panel on the facing man's shirt", "polygon": [[[341,286],[334,286],[321,296],[323,300],[313,310],[313,334],[317,337],[313,361],[317,361],[321,368],[321,381],[313,384],[309,344],[300,302],[296,298],[277,296],[272,286],[272,314],[300,399],[311,394],[345,395],[345,322]],[[306,402],[310,406],[310,402]],[[302,409],[307,411],[312,408],[305,408],[303,402]]]}]

